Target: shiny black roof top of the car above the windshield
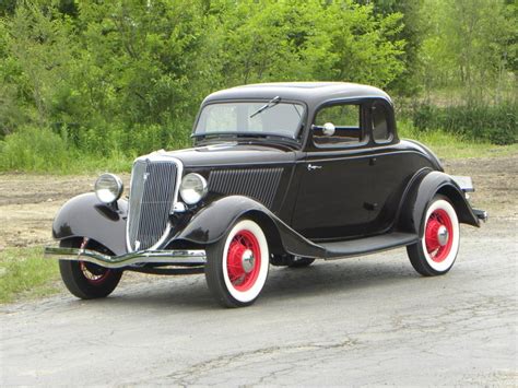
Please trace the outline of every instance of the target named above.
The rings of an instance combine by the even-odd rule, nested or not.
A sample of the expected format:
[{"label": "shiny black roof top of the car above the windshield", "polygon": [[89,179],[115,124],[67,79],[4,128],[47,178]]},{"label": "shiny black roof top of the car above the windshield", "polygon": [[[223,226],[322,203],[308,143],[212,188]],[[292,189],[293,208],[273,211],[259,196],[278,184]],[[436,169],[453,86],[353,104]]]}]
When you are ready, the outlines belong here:
[{"label": "shiny black roof top of the car above the windshield", "polygon": [[203,104],[220,99],[283,99],[302,101],[308,105],[319,105],[329,99],[380,97],[391,103],[380,89],[349,82],[274,82],[257,83],[226,89],[212,93]]}]

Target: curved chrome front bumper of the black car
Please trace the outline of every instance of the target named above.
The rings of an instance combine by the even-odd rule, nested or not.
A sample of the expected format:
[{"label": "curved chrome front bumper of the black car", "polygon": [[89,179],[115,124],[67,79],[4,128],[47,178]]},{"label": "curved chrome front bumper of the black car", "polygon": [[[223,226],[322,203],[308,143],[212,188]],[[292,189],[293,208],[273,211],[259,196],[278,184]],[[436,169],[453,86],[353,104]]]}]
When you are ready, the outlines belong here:
[{"label": "curved chrome front bumper of the black car", "polygon": [[204,250],[140,250],[120,256],[108,256],[95,250],[80,248],[45,247],[45,256],[61,260],[89,261],[106,268],[123,268],[150,262],[177,267],[203,266],[207,262]]}]

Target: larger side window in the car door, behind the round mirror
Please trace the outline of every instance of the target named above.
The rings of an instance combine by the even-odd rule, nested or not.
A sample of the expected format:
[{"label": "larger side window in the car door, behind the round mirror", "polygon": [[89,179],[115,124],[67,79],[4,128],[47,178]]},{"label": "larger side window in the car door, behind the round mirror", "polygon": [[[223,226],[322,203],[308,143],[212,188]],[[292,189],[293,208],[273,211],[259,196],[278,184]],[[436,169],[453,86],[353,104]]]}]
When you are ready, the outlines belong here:
[{"label": "larger side window in the car door, behind the round mirror", "polygon": [[[317,146],[340,146],[363,141],[361,105],[340,104],[321,108],[315,118],[313,141]],[[327,131],[325,127],[334,130]]]}]

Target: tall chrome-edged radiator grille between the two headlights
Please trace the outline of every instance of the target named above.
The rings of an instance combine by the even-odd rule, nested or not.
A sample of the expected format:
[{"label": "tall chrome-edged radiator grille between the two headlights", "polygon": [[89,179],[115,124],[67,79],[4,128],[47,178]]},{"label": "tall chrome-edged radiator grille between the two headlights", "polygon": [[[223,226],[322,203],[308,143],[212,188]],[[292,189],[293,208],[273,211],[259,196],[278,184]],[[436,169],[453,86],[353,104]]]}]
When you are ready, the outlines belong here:
[{"label": "tall chrome-edged radiator grille between the two headlights", "polygon": [[177,189],[178,165],[172,161],[139,160],[133,164],[128,213],[128,248],[154,246],[168,230]]}]

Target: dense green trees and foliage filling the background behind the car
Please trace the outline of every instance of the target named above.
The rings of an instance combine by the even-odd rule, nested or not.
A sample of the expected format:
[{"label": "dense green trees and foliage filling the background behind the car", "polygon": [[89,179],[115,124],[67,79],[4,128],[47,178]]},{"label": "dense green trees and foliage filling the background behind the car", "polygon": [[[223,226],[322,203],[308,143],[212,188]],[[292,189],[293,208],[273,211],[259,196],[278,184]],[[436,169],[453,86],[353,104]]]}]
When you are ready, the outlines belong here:
[{"label": "dense green trees and foliage filling the background behind the car", "polygon": [[[59,163],[184,146],[202,97],[244,83],[368,83],[469,117],[516,108],[517,12],[508,0],[2,0],[0,168],[52,143]],[[446,121],[422,127],[455,130]],[[507,129],[497,142],[515,141]]]}]

